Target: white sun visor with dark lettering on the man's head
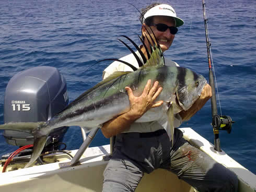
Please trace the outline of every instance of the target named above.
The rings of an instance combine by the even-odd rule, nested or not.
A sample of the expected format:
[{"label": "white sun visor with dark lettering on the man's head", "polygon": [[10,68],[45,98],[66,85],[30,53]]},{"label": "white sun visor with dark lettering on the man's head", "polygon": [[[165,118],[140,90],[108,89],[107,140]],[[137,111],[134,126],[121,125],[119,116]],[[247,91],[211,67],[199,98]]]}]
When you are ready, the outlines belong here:
[{"label": "white sun visor with dark lettering on the man's head", "polygon": [[151,9],[149,9],[143,18],[143,22],[149,17],[153,16],[169,16],[176,20],[176,27],[180,27],[183,25],[184,21],[176,16],[175,10],[167,4],[157,5]]}]

